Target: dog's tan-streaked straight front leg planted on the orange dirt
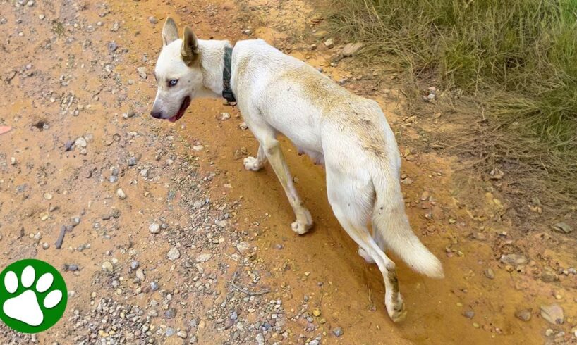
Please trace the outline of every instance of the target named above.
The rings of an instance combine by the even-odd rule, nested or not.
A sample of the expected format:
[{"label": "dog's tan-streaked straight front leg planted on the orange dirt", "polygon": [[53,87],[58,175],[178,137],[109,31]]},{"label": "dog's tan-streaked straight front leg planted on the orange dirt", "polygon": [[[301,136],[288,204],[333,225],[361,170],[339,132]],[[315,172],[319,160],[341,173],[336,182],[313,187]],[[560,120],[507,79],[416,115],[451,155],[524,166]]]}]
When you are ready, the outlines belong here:
[{"label": "dog's tan-streaked straight front leg planted on the orange dirt", "polygon": [[[265,147],[263,148],[263,146]],[[288,165],[286,165],[286,161],[284,160],[279,142],[277,139],[274,139],[274,137],[267,137],[264,142],[261,142],[260,148],[265,151],[265,155],[267,156],[272,169],[277,174],[284,192],[288,197],[288,201],[293,207],[293,211],[296,215],[296,221],[291,224],[293,231],[297,234],[305,234],[308,232],[310,227],[312,227],[312,217],[296,192],[291,172],[288,171]]]}]

